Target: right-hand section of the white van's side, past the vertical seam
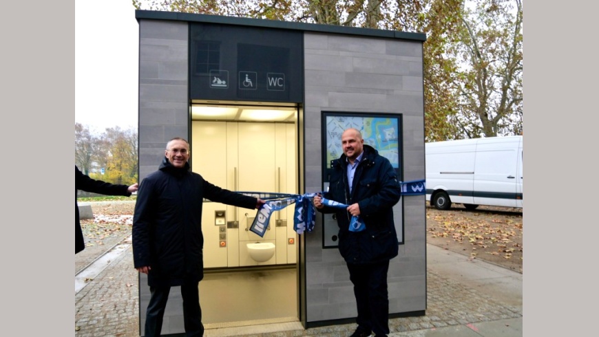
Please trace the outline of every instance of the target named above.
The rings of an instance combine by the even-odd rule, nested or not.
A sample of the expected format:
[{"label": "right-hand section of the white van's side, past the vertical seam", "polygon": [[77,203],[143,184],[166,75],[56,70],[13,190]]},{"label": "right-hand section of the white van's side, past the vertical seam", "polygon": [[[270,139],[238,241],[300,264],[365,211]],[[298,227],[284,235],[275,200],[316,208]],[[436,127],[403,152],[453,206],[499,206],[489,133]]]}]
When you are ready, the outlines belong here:
[{"label": "right-hand section of the white van's side, past the vertical seam", "polygon": [[479,140],[474,160],[474,204],[516,207],[517,138],[505,142]]}]

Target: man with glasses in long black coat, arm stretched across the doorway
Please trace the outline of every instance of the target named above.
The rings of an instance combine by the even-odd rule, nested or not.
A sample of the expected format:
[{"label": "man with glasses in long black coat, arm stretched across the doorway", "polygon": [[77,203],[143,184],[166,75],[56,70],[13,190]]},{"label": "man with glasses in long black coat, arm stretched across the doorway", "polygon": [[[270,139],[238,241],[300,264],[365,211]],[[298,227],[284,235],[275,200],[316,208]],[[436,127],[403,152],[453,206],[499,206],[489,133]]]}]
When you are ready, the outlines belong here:
[{"label": "man with glasses in long black coat, arm stretched across the doorway", "polygon": [[189,142],[173,138],[158,171],[140,184],[133,217],[134,266],[147,274],[151,298],[145,336],[160,336],[171,286],[180,285],[187,336],[203,336],[198,283],[204,278],[202,202],[242,208],[264,200],[213,185],[189,170]]}]

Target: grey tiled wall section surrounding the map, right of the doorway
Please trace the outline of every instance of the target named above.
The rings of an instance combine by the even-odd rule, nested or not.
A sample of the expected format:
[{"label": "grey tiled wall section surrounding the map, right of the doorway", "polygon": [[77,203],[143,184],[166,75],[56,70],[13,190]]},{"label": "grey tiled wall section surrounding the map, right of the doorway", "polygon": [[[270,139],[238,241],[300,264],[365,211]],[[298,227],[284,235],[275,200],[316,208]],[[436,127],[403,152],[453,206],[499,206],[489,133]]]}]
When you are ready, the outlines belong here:
[{"label": "grey tiled wall section surrounding the map, right of the doorway", "polygon": [[[421,179],[424,175],[421,43],[306,32],[304,46],[306,120],[311,120],[306,128],[306,190],[313,191],[314,186],[322,188],[322,166],[317,163],[322,161],[322,139],[316,142],[316,138],[310,138],[322,134],[322,111],[402,113],[403,177]],[[405,237],[404,244],[399,246],[399,256],[390,263],[391,313],[425,307],[423,205],[423,196],[412,196],[402,197],[394,207],[399,230],[401,219],[404,221]],[[322,226],[321,215],[316,226]],[[308,322],[355,317],[353,285],[347,267],[336,248],[322,248],[322,231],[306,236],[306,254],[311,257],[306,262],[308,277],[315,275],[314,270],[330,268],[328,264],[338,262],[333,281],[321,284],[330,290],[328,304],[322,298],[313,298],[317,302],[312,302],[308,296]],[[312,279],[311,288],[319,287],[321,281],[322,277]]]}]

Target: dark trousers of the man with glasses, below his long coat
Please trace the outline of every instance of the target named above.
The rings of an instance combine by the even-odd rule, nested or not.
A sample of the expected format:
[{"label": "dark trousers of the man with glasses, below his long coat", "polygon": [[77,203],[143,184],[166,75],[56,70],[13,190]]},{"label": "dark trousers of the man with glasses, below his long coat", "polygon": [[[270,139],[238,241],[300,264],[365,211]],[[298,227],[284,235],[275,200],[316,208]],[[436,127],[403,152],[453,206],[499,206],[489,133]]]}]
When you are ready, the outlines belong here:
[{"label": "dark trousers of the man with glasses, below his long coat", "polygon": [[[165,316],[165,307],[169,299],[171,287],[150,287],[150,301],[147,305],[145,316],[145,334],[147,337],[160,336],[162,331],[162,318]],[[198,282],[189,282],[181,285],[183,298],[183,324],[186,336],[204,336],[202,325],[202,309],[200,308],[200,294]]]}]

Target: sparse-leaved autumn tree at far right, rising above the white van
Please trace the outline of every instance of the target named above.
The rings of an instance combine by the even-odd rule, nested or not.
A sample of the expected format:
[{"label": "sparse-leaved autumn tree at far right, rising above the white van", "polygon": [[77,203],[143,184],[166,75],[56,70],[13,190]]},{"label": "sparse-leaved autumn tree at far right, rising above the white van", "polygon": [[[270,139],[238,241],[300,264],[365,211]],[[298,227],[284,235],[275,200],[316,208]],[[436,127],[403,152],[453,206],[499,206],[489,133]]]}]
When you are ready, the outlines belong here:
[{"label": "sparse-leaved autumn tree at far right, rising above the white van", "polygon": [[460,113],[452,119],[467,138],[521,132],[522,2],[480,1],[464,12],[453,47],[464,65],[456,82]]}]

